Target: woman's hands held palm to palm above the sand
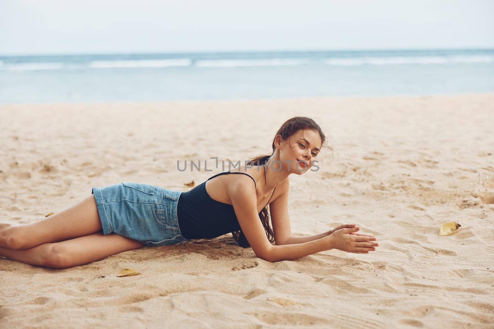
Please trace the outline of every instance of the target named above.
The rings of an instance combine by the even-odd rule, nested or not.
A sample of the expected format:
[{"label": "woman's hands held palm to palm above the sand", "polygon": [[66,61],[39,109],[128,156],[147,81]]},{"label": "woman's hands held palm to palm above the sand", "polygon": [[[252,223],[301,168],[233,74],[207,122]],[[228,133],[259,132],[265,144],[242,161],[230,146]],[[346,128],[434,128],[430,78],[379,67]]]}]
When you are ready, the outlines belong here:
[{"label": "woman's hands held palm to palm above the sand", "polygon": [[375,247],[379,246],[375,242],[376,239],[374,236],[355,233],[360,229],[358,226],[340,229],[338,227],[334,229],[332,234],[328,235],[331,249],[338,249],[354,254],[369,254],[370,251],[374,251]]}]

